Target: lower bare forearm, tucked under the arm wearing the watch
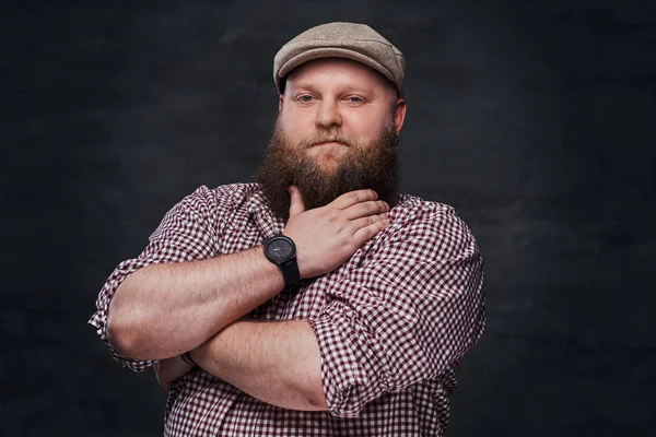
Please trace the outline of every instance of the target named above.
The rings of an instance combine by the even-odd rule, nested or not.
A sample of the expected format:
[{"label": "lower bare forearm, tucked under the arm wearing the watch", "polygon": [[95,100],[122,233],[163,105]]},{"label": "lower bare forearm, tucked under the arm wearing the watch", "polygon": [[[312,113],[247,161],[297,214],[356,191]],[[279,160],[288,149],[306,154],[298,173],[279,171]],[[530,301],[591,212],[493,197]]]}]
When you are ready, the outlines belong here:
[{"label": "lower bare forearm, tucked under the arm wearing the watch", "polygon": [[320,353],[305,320],[238,321],[191,352],[206,371],[262,402],[323,411]]}]

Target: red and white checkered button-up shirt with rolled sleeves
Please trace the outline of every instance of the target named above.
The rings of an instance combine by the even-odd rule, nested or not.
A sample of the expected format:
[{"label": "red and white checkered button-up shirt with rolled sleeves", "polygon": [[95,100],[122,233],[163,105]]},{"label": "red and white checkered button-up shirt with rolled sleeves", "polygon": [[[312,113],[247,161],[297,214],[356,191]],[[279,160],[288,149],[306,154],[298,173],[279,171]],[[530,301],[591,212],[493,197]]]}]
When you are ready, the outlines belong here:
[{"label": "red and white checkered button-up shirt with rolled sleeves", "polygon": [[[195,368],[168,393],[165,436],[442,436],[455,370],[481,336],[483,267],[454,209],[402,194],[390,225],[349,261],[304,280],[247,318],[308,320],[321,354],[326,412],[263,403]],[[175,205],[136,259],[112,273],[89,321],[107,343],[107,309],[119,284],[159,262],[207,259],[260,245],[284,223],[256,184],[202,186]]]}]

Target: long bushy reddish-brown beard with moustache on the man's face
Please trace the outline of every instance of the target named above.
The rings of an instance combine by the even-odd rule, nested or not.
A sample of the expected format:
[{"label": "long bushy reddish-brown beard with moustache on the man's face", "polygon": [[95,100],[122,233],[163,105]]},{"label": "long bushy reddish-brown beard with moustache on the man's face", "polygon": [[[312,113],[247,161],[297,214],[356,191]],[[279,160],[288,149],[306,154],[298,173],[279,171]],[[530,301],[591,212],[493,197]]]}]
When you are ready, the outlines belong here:
[{"label": "long bushy reddish-brown beard with moustache on the man's face", "polygon": [[[335,164],[335,168],[326,170],[321,168],[318,157],[308,154],[308,149],[329,141],[340,142],[348,149],[338,157],[329,157],[339,162],[330,163]],[[300,189],[307,210],[327,205],[345,192],[365,188],[376,191],[378,199],[393,208],[400,193],[396,142],[391,121],[366,145],[335,130],[325,130],[300,144],[292,144],[280,122],[277,122],[258,169],[257,181],[271,211],[285,221],[289,218],[289,187],[292,185]],[[328,166],[327,163],[325,165]]]}]

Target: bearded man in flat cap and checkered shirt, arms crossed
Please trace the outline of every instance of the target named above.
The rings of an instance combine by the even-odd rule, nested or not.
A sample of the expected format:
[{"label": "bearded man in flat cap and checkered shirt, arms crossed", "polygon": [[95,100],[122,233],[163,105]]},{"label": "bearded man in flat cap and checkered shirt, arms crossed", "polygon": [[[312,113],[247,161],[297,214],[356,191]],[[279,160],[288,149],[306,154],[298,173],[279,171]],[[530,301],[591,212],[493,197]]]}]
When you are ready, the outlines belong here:
[{"label": "bearded man in flat cap and checkered shirt, arms crossed", "polygon": [[200,187],[107,280],[90,323],[154,365],[164,435],[443,435],[482,261],[450,206],[399,191],[403,74],[366,25],[292,39],[258,184]]}]

